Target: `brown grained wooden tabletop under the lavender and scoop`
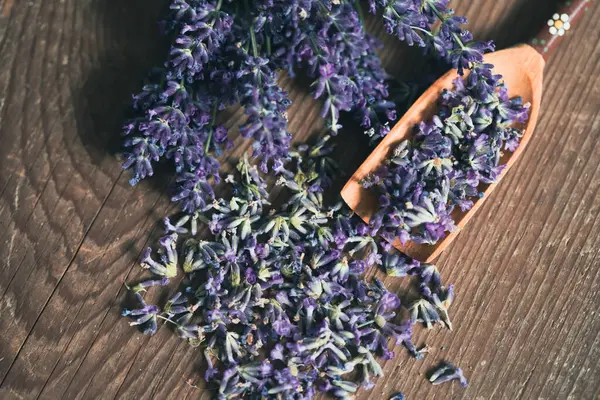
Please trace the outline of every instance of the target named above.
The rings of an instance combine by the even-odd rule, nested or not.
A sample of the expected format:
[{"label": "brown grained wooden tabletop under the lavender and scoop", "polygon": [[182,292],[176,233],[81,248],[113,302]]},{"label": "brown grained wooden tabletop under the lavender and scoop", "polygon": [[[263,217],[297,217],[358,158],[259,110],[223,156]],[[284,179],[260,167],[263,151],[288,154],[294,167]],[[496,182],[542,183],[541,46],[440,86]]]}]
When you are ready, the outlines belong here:
[{"label": "brown grained wooden tabletop under the lavender and scoop", "polygon": [[[147,338],[119,316],[124,281],[172,211],[168,175],[136,188],[115,157],[129,96],[165,43],[167,0],[0,0],[0,398],[208,398],[199,354],[161,329]],[[551,0],[453,0],[479,38],[524,41]],[[370,23],[381,37],[381,26]],[[394,74],[422,57],[393,38]],[[297,140],[318,107],[286,80]],[[424,360],[400,355],[359,397],[595,399],[600,389],[600,5],[548,63],[532,143],[475,220],[438,260],[456,284],[455,330],[417,330]],[[231,114],[230,123],[240,112]],[[352,171],[365,140],[346,132]],[[239,142],[235,153],[244,150]],[[117,144],[118,146],[118,144]],[[397,280],[386,284],[398,288]],[[470,387],[430,386],[440,359]]]}]

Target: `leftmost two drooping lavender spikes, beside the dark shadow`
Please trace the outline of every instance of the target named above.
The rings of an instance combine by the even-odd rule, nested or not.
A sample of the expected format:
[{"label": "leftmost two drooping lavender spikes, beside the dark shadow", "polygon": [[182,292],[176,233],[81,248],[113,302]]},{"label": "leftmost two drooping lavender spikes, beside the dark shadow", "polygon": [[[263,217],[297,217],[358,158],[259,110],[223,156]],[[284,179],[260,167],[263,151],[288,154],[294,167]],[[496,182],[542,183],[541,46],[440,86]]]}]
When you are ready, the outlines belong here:
[{"label": "leftmost two drooping lavender spikes, beside the dark shadow", "polygon": [[[125,126],[124,169],[133,170],[135,185],[153,174],[161,158],[173,161],[177,185],[173,201],[191,212],[214,198],[219,182],[219,154],[228,145],[227,129],[216,124],[217,111],[232,94],[219,93],[209,79],[220,71],[219,56],[230,37],[233,17],[222,2],[174,0],[168,29],[175,37],[165,68],[134,96],[139,115]],[[222,83],[230,78],[221,76]]]}]

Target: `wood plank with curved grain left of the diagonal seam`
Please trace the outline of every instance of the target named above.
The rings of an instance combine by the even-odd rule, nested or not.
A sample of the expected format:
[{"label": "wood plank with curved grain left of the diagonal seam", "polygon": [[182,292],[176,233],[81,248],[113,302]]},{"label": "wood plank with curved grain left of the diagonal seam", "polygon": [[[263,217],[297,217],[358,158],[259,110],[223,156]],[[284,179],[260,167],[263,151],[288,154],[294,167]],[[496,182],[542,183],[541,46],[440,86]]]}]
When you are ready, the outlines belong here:
[{"label": "wood plank with curved grain left of the diagonal seam", "polygon": [[[116,2],[113,3],[115,6]],[[139,9],[142,3],[145,2],[132,5]],[[4,237],[0,239],[8,243],[2,249],[8,252],[3,254],[3,260],[8,261],[2,267],[0,287],[2,293],[6,292],[3,311],[11,313],[16,309],[17,315],[2,318],[0,322],[2,377],[20,352],[75,254],[85,251],[85,247],[80,247],[82,240],[100,210],[123,200],[115,198],[113,204],[107,198],[121,173],[118,162],[105,149],[90,144],[94,140],[100,143],[118,137],[118,118],[123,117],[123,106],[128,102],[130,92],[139,85],[139,77],[149,67],[148,61],[144,62],[137,53],[146,49],[144,56],[147,58],[151,54],[148,50],[156,51],[156,43],[148,41],[147,33],[155,31],[153,21],[160,15],[159,8],[164,3],[155,2],[158,7],[154,7],[154,12],[151,12],[152,8],[146,8],[149,18],[145,31],[138,26],[112,37],[108,42],[112,56],[107,53],[104,60],[97,59],[104,46],[101,40],[104,24],[96,24],[96,20],[100,16],[108,19],[111,14],[99,13],[96,9],[99,4],[101,2],[83,6],[78,2],[46,2],[29,7],[25,3],[13,9],[10,23],[19,28],[14,33],[24,38],[20,47],[25,50],[15,51],[14,56],[21,58],[14,61],[16,72],[3,76],[9,82],[5,92],[9,98],[3,114],[1,137],[13,139],[15,145],[7,143],[2,148],[2,170],[15,173],[0,206],[0,219],[12,224],[2,231]],[[118,10],[115,8],[115,12]],[[35,32],[40,15],[45,15],[47,20],[40,24],[40,32]],[[127,16],[131,17],[131,14]],[[90,25],[97,27],[86,28]],[[30,37],[28,33],[23,36],[21,26],[28,26],[34,33]],[[136,32],[138,40],[134,40]],[[114,41],[123,41],[124,33],[128,34],[126,37],[130,41],[125,42],[128,45],[115,48]],[[53,40],[47,41],[45,37]],[[17,39],[11,40],[18,44]],[[129,69],[123,70],[122,66],[106,69],[110,67],[109,62],[120,57],[114,57],[116,50],[127,50],[133,56],[133,61],[124,60],[129,63]],[[19,64],[21,68],[18,68]],[[30,66],[31,71],[23,66]],[[103,76],[98,73],[101,67]],[[99,84],[105,85],[103,92],[97,91],[102,88]],[[124,86],[111,87],[113,84]],[[88,98],[94,98],[91,91],[103,96],[86,104]],[[107,110],[104,102],[113,102],[112,108]],[[112,115],[107,115],[107,111]],[[114,121],[110,127],[114,133],[102,131],[106,126],[98,125],[94,118]],[[14,154],[11,153],[13,149]],[[134,193],[129,191],[126,183],[121,187],[128,196]],[[75,298],[70,300],[77,301]],[[43,334],[40,339],[44,337]],[[52,339],[60,337],[58,332],[50,336]]]}]

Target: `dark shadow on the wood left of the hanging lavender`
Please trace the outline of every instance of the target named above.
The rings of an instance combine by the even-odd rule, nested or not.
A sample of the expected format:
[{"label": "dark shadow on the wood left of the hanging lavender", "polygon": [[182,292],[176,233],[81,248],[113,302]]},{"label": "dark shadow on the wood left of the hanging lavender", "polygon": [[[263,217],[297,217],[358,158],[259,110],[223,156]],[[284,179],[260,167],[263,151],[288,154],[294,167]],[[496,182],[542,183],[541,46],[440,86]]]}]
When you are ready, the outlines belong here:
[{"label": "dark shadow on the wood left of the hanging lavender", "polygon": [[[84,72],[81,86],[72,87],[77,131],[91,161],[98,165],[116,155],[122,144],[122,124],[152,67],[160,66],[168,51],[156,21],[165,14],[168,0],[108,0],[91,3],[93,23],[102,26],[102,47],[87,54],[95,60]],[[86,21],[90,23],[90,21]],[[87,34],[87,29],[82,29]],[[85,39],[84,39],[85,40]],[[115,160],[115,163],[118,161]]]}]

